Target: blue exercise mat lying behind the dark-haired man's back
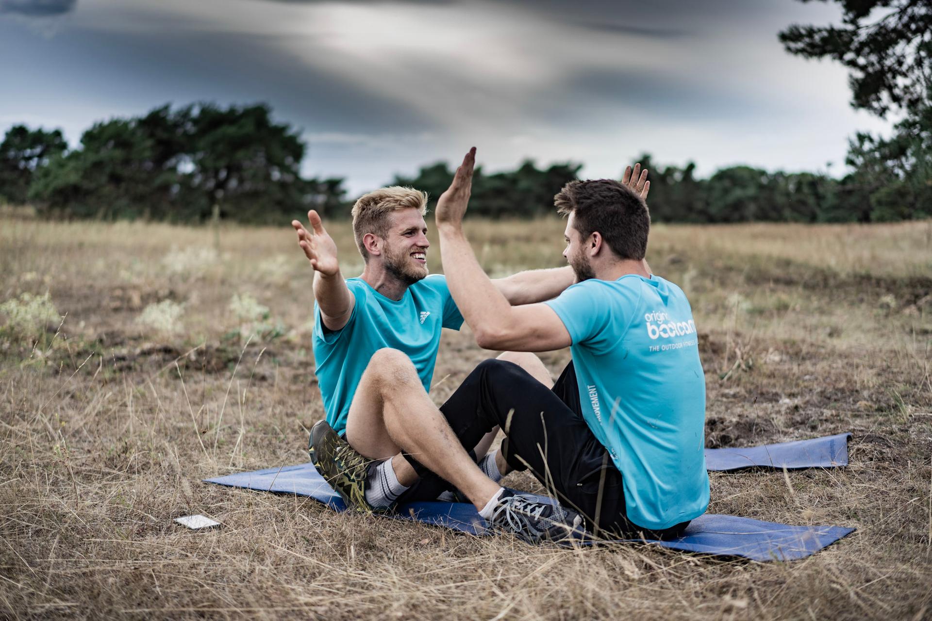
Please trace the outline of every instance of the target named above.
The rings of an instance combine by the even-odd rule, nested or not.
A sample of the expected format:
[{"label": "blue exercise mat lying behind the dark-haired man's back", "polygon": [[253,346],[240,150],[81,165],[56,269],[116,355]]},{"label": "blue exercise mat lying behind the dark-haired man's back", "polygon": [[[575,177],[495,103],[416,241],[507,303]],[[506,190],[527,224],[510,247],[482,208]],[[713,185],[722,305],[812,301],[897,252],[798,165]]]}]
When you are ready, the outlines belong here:
[{"label": "blue exercise mat lying behind the dark-haired man's back", "polygon": [[706,449],[706,468],[728,472],[753,467],[796,470],[847,466],[849,438],[851,434],[843,433],[747,449]]}]

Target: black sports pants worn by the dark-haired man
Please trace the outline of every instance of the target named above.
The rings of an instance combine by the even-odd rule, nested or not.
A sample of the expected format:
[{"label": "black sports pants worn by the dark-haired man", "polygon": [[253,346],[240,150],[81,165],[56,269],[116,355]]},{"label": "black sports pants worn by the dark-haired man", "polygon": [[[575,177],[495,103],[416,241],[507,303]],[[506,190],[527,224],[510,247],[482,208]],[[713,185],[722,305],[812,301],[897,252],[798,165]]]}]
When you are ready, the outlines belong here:
[{"label": "black sports pants worn by the dark-haired man", "polygon": [[[488,359],[440,407],[468,451],[496,425],[505,434],[501,452],[515,470],[530,470],[564,506],[583,514],[593,531],[619,537],[677,536],[688,521],[661,531],[627,520],[622,473],[583,419],[576,371],[570,361],[553,389],[512,362]],[[421,476],[399,499],[433,500],[450,489],[410,455]]]}]

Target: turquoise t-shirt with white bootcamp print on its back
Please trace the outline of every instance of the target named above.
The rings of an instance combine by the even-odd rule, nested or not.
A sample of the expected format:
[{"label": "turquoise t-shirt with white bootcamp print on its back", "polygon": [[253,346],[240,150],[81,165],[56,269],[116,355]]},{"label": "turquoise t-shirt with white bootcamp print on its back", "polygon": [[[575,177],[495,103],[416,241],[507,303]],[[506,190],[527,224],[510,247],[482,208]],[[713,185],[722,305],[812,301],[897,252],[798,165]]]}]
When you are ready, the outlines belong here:
[{"label": "turquoise t-shirt with white bootcamp print on its back", "polygon": [[583,417],[622,473],[628,520],[664,529],[705,513],[706,380],[683,291],[629,274],[544,304],[572,338]]}]

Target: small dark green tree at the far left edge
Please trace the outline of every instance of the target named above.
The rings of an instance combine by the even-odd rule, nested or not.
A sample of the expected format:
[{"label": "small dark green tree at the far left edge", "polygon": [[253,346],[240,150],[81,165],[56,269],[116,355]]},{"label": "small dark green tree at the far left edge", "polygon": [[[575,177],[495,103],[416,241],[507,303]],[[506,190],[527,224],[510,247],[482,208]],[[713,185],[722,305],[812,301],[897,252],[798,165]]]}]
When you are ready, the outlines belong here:
[{"label": "small dark green tree at the far left edge", "polygon": [[0,142],[0,200],[21,205],[29,197],[35,171],[68,148],[59,129],[45,131],[16,125]]}]

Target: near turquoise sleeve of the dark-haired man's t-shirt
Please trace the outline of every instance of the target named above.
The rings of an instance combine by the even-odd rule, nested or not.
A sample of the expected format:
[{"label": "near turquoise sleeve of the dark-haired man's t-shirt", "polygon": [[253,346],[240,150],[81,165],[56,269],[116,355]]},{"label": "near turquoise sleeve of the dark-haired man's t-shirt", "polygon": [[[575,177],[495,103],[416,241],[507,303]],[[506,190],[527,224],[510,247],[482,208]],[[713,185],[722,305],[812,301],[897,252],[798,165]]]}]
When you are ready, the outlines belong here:
[{"label": "near turquoise sleeve of the dark-haired man's t-shirt", "polygon": [[[608,341],[607,329],[613,323],[610,290],[595,281],[572,285],[547,304],[554,309],[569,332],[572,344],[590,344],[596,349]],[[614,335],[615,340],[621,336]]]}]

